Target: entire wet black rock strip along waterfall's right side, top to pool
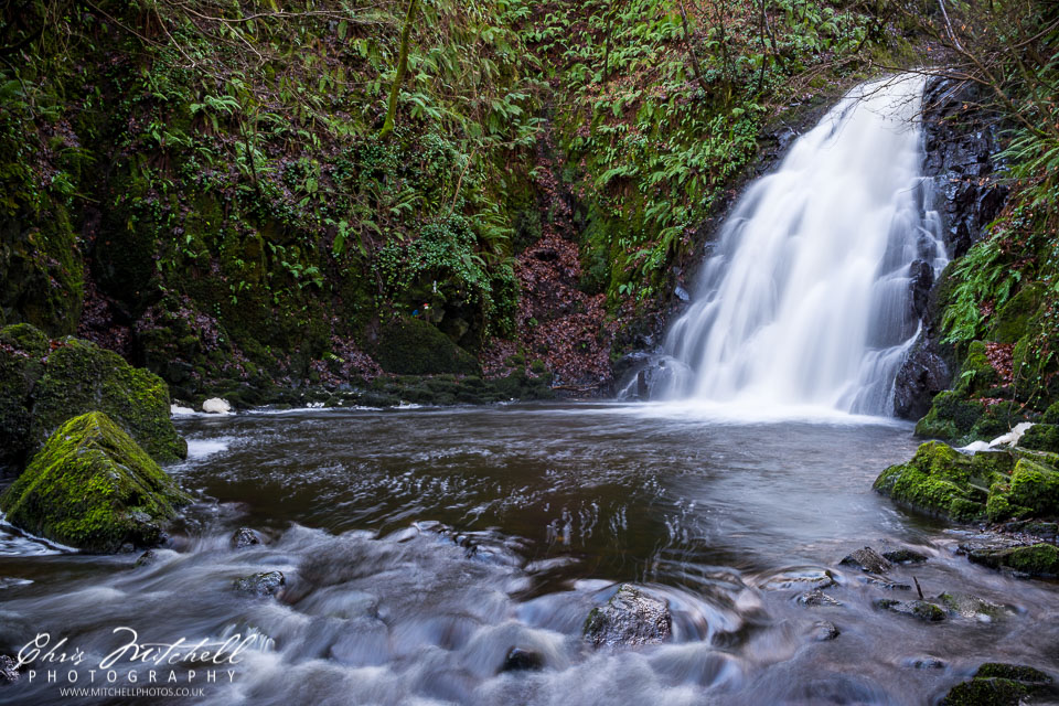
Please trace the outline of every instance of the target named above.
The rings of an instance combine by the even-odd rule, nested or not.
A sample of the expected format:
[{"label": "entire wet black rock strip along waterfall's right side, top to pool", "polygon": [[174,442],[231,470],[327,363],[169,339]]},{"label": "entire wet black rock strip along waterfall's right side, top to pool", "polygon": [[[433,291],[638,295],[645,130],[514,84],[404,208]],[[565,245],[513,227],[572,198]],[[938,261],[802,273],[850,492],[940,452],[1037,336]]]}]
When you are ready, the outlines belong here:
[{"label": "entire wet black rock strip along waterfall's right side, top to pool", "polygon": [[[942,234],[950,259],[962,257],[977,243],[1007,199],[998,183],[995,125],[974,106],[977,87],[948,78],[932,78],[923,95],[923,172],[934,182],[934,204],[942,217]],[[926,263],[924,263],[926,265]],[[894,413],[919,419],[930,402],[952,382],[952,352],[941,342],[940,293],[949,285],[946,272],[937,281],[917,271],[911,281],[916,315],[922,329],[895,381]]]}]

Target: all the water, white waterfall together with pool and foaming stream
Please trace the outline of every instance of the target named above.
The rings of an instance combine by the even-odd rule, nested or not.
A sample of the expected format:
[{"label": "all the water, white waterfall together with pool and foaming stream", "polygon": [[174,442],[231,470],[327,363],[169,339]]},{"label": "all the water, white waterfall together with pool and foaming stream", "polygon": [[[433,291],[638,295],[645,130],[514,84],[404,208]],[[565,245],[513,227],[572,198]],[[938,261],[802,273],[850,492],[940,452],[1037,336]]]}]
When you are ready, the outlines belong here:
[{"label": "all the water, white waterfall together with pool and foaming stream", "polygon": [[[0,703],[927,704],[984,661],[1057,674],[1059,587],[971,565],[966,533],[874,494],[916,442],[848,414],[887,411],[916,333],[910,263],[944,261],[920,89],[863,88],[750,188],[655,371],[691,399],[184,417],[192,457],[169,470],[199,502],[153,563],[0,525],[0,653],[43,655]],[[265,542],[234,548],[244,526]],[[839,566],[866,545],[928,560]],[[233,589],[268,570],[277,597]],[[995,608],[875,607],[913,579]],[[832,581],[834,602],[798,600]],[[622,582],[668,602],[670,641],[581,638]],[[120,628],[154,656],[245,649],[99,666]],[[513,648],[541,668],[505,671]],[[162,687],[184,691],[133,691]]]}]

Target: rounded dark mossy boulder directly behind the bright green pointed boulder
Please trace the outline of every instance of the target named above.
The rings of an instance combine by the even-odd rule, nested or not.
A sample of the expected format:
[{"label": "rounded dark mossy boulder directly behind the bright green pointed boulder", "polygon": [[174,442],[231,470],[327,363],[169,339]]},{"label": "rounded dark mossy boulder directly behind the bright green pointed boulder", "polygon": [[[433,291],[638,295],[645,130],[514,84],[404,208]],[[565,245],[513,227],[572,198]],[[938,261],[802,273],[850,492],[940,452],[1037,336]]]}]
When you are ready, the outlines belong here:
[{"label": "rounded dark mossy boulder directly behind the bright green pointed boulder", "polygon": [[103,411],[159,462],[188,456],[169,415],[169,388],[149,371],[87,341],[66,339],[47,359],[33,392],[32,435],[42,442],[65,420]]}]

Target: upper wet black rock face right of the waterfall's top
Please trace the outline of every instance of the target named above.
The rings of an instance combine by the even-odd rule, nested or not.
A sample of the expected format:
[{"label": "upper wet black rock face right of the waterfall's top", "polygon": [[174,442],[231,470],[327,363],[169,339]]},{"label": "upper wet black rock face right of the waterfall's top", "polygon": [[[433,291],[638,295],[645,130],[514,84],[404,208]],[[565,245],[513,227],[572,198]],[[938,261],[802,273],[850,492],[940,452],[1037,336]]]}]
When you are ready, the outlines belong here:
[{"label": "upper wet black rock face right of the waterfall's top", "polygon": [[966,108],[978,103],[976,92],[939,77],[923,94],[923,169],[937,184],[935,205],[944,218],[950,258],[963,256],[981,239],[983,226],[1001,212],[1008,191],[992,179],[994,127]]}]

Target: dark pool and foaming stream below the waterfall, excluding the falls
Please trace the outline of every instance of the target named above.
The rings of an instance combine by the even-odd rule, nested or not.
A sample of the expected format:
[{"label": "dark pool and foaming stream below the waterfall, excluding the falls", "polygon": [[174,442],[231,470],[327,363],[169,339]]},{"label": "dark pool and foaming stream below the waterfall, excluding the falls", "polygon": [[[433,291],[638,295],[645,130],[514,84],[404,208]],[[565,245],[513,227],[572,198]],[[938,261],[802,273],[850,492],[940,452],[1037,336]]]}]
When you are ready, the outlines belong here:
[{"label": "dark pool and foaming stream below the waterfall, excluding the falls", "polygon": [[[135,568],[3,533],[0,651],[66,638],[85,653],[75,686],[90,686],[128,634],[116,627],[141,643],[257,638],[215,682],[154,667],[191,695],[63,695],[60,664],[0,703],[929,704],[984,661],[1059,676],[1059,586],[971,565],[954,553],[964,534],[871,492],[914,450],[909,426],[783,417],[570,404],[181,418],[192,458],[169,470],[201,502],[173,547]],[[267,544],[233,549],[240,526]],[[890,580],[1004,608],[939,623],[880,611],[913,592],[838,565],[865,545],[928,555]],[[287,579],[278,600],[232,589],[270,569]],[[796,579],[822,570],[842,605],[800,605]],[[668,601],[671,642],[580,639],[621,582]],[[841,634],[816,641],[819,621]],[[511,648],[544,668],[501,672]],[[147,672],[118,662],[104,685],[147,687]]]}]

